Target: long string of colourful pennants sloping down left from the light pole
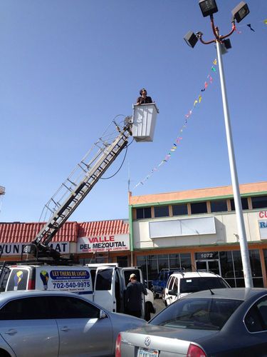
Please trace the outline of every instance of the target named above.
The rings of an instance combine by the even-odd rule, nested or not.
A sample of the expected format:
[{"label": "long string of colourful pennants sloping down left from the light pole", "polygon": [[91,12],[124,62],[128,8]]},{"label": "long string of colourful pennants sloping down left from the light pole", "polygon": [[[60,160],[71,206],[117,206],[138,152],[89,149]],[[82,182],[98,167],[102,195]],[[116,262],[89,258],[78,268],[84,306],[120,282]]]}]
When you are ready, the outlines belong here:
[{"label": "long string of colourful pennants sloping down left from the light pole", "polygon": [[[214,59],[214,61],[213,61],[212,64],[213,64],[213,65],[211,66],[211,71],[216,74],[217,60]],[[204,88],[201,89],[201,92],[204,92],[204,91],[208,88],[208,86],[209,86],[210,84],[212,84],[212,80],[213,80],[213,79],[212,79],[211,75],[208,74],[208,76],[207,76],[206,78],[209,80],[209,84],[208,84],[207,81],[204,81]],[[174,140],[174,142],[173,142],[173,144],[172,144],[172,146],[171,146],[171,149],[169,149],[169,152],[167,153],[167,155],[165,155],[164,159],[163,159],[162,161],[160,161],[160,163],[159,163],[157,166],[155,166],[154,169],[152,169],[152,170],[150,171],[150,174],[148,174],[147,176],[145,176],[145,178],[143,178],[142,181],[138,182],[138,183],[132,188],[133,190],[134,190],[135,188],[137,188],[138,186],[140,186],[140,185],[144,185],[145,181],[147,181],[147,180],[150,178],[150,176],[152,176],[156,171],[158,171],[158,169],[159,169],[160,166],[162,166],[163,164],[166,164],[166,163],[169,161],[169,159],[171,159],[172,154],[174,154],[174,152],[179,149],[179,145],[181,145],[181,142],[182,142],[182,139],[183,139],[183,138],[182,138],[182,133],[183,133],[184,129],[187,128],[187,124],[188,124],[189,118],[192,116],[194,109],[195,109],[197,106],[199,106],[199,104],[201,103],[201,101],[202,101],[202,95],[199,94],[199,95],[197,96],[197,98],[194,99],[194,102],[193,102],[194,104],[193,104],[192,109],[190,109],[190,110],[187,112],[187,114],[184,115],[184,117],[185,117],[184,123],[183,123],[181,129],[179,130],[178,136],[177,136],[177,138]]]}]

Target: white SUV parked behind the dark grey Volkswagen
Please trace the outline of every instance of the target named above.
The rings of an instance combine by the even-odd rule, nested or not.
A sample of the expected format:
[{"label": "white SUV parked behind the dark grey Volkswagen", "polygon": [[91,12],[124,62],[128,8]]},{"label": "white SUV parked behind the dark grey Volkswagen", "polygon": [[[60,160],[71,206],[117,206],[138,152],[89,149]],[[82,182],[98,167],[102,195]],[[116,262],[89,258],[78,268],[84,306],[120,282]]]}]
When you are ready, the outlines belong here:
[{"label": "white SUV parked behind the dark grey Volkswagen", "polygon": [[169,276],[164,290],[165,306],[170,305],[183,296],[208,288],[230,288],[224,278],[214,273],[200,271],[177,271]]}]

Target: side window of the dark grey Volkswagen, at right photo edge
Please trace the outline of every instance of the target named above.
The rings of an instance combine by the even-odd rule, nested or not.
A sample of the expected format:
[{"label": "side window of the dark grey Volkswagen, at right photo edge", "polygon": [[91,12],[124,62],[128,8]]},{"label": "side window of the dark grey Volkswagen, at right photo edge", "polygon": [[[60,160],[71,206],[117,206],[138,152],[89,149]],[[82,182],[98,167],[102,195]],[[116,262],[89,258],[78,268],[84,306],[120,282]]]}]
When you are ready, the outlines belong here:
[{"label": "side window of the dark grey Volkswagen, at right photo edge", "polygon": [[245,317],[245,325],[249,332],[267,331],[267,297],[257,301]]}]

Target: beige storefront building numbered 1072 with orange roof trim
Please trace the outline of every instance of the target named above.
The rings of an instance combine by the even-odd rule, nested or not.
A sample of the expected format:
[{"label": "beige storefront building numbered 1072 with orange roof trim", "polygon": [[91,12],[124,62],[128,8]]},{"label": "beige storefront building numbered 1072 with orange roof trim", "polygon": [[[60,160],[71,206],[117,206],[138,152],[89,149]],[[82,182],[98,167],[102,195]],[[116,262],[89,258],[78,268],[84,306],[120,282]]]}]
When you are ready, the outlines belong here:
[{"label": "beige storefront building numbered 1072 with orange roof trim", "polygon": [[[267,287],[267,181],[240,185],[253,285]],[[132,263],[147,281],[162,268],[244,275],[231,186],[129,196]]]}]

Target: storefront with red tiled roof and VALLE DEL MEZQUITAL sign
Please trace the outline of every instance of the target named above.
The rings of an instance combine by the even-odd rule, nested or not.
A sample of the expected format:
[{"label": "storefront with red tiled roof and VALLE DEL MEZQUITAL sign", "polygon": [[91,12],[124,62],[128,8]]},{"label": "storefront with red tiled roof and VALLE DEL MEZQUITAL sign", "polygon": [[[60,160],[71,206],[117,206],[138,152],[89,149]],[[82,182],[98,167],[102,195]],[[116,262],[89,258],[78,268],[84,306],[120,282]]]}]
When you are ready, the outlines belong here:
[{"label": "storefront with red tiled roof and VALLE DEL MEZQUITAL sign", "polygon": [[[21,261],[23,246],[31,243],[45,223],[0,223],[1,261]],[[129,223],[123,220],[66,222],[49,244],[61,256],[80,263],[130,261]]]}]

